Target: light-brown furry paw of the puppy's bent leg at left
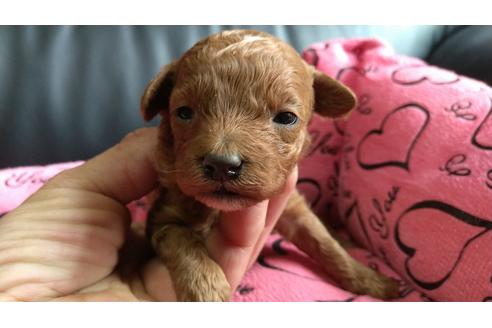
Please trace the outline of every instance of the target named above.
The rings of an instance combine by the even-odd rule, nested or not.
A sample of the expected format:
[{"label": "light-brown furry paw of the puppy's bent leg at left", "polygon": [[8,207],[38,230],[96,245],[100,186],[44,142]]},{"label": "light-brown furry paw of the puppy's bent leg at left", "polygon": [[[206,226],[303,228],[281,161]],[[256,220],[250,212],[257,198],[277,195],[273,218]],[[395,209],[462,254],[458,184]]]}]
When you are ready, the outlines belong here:
[{"label": "light-brown furry paw of the puppy's bent leg at left", "polygon": [[210,258],[193,270],[176,273],[175,289],[178,300],[185,302],[224,302],[231,297],[222,268]]}]

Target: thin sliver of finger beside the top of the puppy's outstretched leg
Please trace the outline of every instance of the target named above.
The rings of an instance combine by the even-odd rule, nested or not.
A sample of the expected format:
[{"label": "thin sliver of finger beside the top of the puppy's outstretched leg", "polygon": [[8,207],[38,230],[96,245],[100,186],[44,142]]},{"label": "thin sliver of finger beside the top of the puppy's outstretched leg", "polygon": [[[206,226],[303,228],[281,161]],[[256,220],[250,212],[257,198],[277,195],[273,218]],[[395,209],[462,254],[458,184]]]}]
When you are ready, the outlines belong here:
[{"label": "thin sliver of finger beside the top of the puppy's outstretched leg", "polygon": [[282,212],[284,211],[285,206],[287,205],[290,195],[296,189],[297,179],[298,179],[298,168],[296,166],[292,171],[292,173],[287,178],[285,187],[282,190],[282,192],[274,196],[272,199],[270,199],[270,202],[268,204],[268,212],[267,212],[265,228],[263,229],[260,236],[258,237],[254,250],[251,253],[251,257],[249,259],[247,268],[251,267],[251,265],[256,261],[258,255],[263,249],[263,246],[265,245],[268,236],[271,234],[273,228],[275,227],[275,224],[277,224],[277,221],[280,219],[280,216],[282,215]]}]

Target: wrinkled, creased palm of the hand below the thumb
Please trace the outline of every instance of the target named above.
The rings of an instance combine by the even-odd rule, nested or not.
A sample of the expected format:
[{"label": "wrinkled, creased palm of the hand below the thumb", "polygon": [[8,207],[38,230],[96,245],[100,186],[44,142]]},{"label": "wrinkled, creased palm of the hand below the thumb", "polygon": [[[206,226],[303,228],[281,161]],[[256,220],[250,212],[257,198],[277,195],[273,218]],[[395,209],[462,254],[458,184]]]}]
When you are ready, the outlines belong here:
[{"label": "wrinkled, creased palm of the hand below the thumb", "polygon": [[123,281],[114,272],[128,223],[127,209],[109,197],[40,190],[15,211],[15,219],[0,221],[0,298],[149,298],[141,275]]}]

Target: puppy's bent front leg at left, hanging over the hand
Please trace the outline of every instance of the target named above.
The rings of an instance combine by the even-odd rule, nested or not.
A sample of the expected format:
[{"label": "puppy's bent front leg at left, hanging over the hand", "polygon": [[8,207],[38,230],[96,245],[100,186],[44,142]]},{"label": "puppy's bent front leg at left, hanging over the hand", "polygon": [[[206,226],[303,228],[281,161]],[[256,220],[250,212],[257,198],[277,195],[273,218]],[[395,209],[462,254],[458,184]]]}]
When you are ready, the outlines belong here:
[{"label": "puppy's bent front leg at left, hanging over the hand", "polygon": [[231,288],[224,272],[198,233],[169,223],[153,231],[151,242],[171,274],[178,301],[229,300]]}]

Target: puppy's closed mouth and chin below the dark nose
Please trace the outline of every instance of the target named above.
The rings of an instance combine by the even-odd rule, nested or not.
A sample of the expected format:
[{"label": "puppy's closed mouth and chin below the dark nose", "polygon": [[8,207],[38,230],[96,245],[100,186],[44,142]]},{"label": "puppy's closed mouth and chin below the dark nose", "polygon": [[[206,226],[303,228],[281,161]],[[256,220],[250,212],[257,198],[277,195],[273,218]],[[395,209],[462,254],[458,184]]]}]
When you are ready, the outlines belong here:
[{"label": "puppy's closed mouth and chin below the dark nose", "polygon": [[258,203],[260,200],[234,191],[220,184],[214,191],[199,193],[196,200],[221,211],[237,211]]}]

